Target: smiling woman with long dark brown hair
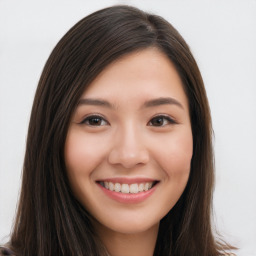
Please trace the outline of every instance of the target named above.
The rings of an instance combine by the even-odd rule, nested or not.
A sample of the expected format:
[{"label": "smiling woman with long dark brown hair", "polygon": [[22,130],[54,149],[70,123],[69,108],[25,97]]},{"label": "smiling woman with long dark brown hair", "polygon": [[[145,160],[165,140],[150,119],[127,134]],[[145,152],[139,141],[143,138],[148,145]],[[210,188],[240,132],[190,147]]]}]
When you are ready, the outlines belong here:
[{"label": "smiling woman with long dark brown hair", "polygon": [[13,255],[224,255],[210,110],[161,17],[95,12],[60,40],[31,113]]}]

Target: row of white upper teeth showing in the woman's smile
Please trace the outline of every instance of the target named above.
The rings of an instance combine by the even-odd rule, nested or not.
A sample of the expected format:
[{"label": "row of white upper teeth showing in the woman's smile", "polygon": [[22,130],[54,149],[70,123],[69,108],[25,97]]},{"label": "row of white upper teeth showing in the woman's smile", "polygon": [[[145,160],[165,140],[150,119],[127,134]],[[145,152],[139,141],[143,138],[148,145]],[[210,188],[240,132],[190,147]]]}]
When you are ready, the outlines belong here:
[{"label": "row of white upper teeth showing in the woman's smile", "polygon": [[153,182],[145,182],[145,183],[134,183],[134,184],[120,184],[120,183],[112,183],[108,181],[100,182],[100,185],[105,187],[108,190],[121,192],[121,193],[131,193],[137,194],[139,192],[148,191],[152,188]]}]

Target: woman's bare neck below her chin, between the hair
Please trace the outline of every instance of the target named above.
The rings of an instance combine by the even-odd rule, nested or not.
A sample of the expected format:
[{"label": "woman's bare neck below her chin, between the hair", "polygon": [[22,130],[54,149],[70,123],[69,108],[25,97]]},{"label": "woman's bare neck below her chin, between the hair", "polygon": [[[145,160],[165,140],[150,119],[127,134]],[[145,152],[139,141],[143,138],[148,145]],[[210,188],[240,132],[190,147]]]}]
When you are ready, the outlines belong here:
[{"label": "woman's bare neck below her chin, between the hair", "polygon": [[153,256],[158,228],[159,224],[156,224],[149,230],[135,234],[101,228],[98,234],[110,256]]}]

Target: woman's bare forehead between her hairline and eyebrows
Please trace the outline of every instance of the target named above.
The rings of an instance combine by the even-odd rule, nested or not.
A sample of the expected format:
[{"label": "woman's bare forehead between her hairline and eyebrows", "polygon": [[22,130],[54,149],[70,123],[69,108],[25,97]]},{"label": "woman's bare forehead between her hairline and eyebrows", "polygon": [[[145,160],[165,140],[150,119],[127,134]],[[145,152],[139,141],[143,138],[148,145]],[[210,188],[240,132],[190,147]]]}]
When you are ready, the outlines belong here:
[{"label": "woman's bare forehead between her hairline and eyebrows", "polygon": [[174,64],[156,48],[127,54],[108,65],[82,98],[107,98],[114,104],[172,97],[187,107],[187,97]]}]

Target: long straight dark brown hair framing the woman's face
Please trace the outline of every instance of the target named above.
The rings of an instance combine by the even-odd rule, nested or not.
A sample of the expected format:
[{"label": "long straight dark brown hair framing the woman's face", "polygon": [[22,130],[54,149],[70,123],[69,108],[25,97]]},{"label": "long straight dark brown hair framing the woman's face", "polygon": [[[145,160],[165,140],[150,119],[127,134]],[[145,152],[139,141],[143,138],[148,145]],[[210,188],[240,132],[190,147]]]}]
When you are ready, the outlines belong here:
[{"label": "long straight dark brown hair framing the woman's face", "polygon": [[32,108],[16,222],[17,255],[107,255],[92,218],[69,187],[64,144],[86,87],[111,62],[148,47],[174,63],[189,100],[193,158],[188,184],[161,220],[154,255],[217,256],[224,246],[211,225],[214,161],[210,109],[188,45],[163,18],[129,6],[97,11],[72,27],[52,51]]}]

